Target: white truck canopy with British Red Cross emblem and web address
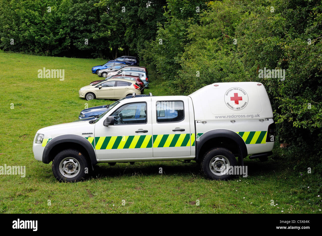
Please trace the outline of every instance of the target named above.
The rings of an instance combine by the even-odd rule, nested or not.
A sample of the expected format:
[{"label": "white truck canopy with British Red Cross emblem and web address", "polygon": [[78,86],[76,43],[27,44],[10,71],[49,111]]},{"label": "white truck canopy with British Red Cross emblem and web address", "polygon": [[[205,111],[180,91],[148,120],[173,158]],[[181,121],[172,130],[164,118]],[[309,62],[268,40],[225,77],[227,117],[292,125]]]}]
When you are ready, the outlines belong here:
[{"label": "white truck canopy with British Red Cross emblem and web address", "polygon": [[213,83],[188,96],[195,120],[273,118],[267,92],[259,82]]}]

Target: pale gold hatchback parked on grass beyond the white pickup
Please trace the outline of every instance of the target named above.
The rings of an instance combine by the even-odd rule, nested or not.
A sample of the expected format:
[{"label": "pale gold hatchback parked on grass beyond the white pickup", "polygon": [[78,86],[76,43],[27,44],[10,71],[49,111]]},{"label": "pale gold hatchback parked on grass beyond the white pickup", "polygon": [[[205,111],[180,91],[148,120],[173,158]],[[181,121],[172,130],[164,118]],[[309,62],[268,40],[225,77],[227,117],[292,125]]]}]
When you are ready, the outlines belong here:
[{"label": "pale gold hatchback parked on grass beyond the white pickup", "polygon": [[125,79],[103,80],[95,85],[87,85],[79,90],[81,98],[87,101],[103,99],[121,99],[133,93],[141,94],[140,86],[136,81]]}]

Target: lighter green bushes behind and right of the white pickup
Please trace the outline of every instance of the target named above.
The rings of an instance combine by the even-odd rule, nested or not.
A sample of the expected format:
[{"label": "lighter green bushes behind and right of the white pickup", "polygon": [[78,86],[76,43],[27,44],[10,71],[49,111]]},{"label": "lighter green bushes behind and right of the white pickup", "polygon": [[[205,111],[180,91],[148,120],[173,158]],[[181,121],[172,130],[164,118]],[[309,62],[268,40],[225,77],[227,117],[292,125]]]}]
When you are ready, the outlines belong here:
[{"label": "lighter green bushes behind and right of the white pickup", "polygon": [[[313,0],[223,0],[209,2],[193,16],[198,22],[185,24],[166,12],[150,53],[140,55],[152,61],[173,93],[187,95],[213,82],[262,82],[277,123],[276,141],[291,145],[283,152],[287,161],[299,171],[321,173],[321,11],[322,2]],[[169,40],[159,45],[159,38]],[[171,57],[164,60],[166,55]],[[285,70],[285,77],[263,78],[264,68]]]}]

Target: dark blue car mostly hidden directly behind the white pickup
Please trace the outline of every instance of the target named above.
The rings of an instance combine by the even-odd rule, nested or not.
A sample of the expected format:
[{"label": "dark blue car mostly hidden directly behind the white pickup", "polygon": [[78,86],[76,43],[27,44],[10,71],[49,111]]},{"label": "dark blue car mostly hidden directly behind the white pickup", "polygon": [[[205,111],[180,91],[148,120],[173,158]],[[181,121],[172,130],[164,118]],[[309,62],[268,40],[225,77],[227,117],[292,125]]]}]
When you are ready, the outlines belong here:
[{"label": "dark blue car mostly hidden directly behind the white pickup", "polygon": [[[136,95],[135,97],[147,97],[147,96],[152,96],[152,94],[141,94],[141,95]],[[132,98],[132,96],[127,96],[125,98],[119,99],[116,102],[110,104],[110,105],[103,105],[103,106],[97,106],[97,107],[91,107],[91,108],[87,108],[81,111],[81,114],[79,115],[78,119],[79,120],[94,120],[99,118],[99,115],[101,115],[102,113],[108,111],[109,109],[111,109],[112,107],[114,107],[115,105],[117,105],[121,100],[123,99],[128,99],[128,98]]]}]

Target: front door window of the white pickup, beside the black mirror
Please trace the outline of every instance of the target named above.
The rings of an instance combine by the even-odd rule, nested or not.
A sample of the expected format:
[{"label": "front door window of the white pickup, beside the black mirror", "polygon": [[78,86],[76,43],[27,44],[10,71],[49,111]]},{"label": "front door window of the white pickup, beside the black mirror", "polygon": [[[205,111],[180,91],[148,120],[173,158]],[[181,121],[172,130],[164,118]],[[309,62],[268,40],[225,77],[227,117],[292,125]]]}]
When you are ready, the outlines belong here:
[{"label": "front door window of the white pickup, beside the black mirror", "polygon": [[147,104],[129,103],[114,111],[111,116],[114,117],[114,125],[146,124]]}]

